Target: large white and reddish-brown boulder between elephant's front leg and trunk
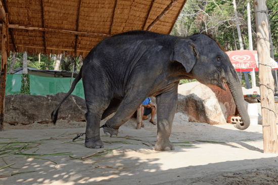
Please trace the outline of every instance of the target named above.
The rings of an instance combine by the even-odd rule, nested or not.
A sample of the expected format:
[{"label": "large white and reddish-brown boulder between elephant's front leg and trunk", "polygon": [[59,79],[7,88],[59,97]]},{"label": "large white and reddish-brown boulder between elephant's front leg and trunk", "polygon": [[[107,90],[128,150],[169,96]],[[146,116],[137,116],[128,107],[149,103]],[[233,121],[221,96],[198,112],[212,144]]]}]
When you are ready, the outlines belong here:
[{"label": "large white and reddish-brown boulder between elephant's front leg and trunk", "polygon": [[177,112],[189,116],[189,121],[224,124],[229,115],[236,112],[236,104],[230,90],[191,82],[178,86]]}]

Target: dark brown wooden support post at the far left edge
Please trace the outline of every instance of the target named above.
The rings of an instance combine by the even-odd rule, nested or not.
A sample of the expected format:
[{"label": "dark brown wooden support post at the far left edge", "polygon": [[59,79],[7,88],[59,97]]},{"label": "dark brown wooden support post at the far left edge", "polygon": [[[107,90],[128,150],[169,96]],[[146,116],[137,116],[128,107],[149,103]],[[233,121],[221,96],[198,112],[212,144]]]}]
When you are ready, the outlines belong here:
[{"label": "dark brown wooden support post at the far left edge", "polygon": [[[1,7],[3,8],[2,4]],[[1,13],[2,15],[3,13]],[[3,19],[3,15],[2,15]],[[2,58],[1,58],[1,76],[0,76],[0,131],[4,130],[4,115],[5,115],[5,92],[7,81],[7,45],[9,42],[9,22],[8,19],[3,19],[2,27]]]}]

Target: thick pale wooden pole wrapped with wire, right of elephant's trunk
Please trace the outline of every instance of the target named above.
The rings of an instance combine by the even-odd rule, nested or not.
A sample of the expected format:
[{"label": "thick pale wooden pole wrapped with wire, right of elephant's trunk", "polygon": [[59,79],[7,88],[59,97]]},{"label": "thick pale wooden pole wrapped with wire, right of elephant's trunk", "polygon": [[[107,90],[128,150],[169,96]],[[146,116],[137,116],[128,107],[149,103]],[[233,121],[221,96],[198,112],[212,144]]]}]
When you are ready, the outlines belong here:
[{"label": "thick pale wooden pole wrapped with wire, right of elephant's trunk", "polygon": [[262,108],[263,152],[278,151],[276,114],[274,112],[273,77],[270,65],[269,34],[265,0],[254,1],[259,81]]}]

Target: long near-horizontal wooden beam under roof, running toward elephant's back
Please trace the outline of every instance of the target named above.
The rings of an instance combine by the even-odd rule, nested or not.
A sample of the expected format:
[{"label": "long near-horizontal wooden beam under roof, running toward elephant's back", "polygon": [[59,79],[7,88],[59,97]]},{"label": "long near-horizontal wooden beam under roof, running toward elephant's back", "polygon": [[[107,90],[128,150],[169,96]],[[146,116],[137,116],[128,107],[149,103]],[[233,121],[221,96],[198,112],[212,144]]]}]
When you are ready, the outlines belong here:
[{"label": "long near-horizontal wooden beam under roof, running toward elephant's back", "polygon": [[[2,26],[3,26],[3,24],[0,23],[0,27],[2,27]],[[35,30],[35,31],[51,31],[51,32],[60,32],[60,33],[68,33],[68,34],[74,34],[74,35],[85,35],[85,36],[102,36],[102,37],[112,36],[110,34],[104,34],[104,33],[88,33],[88,32],[71,31],[71,30],[65,30],[65,29],[39,28],[39,27],[31,27],[31,26],[20,26],[18,24],[10,24],[9,28],[27,29],[27,30]]]}]

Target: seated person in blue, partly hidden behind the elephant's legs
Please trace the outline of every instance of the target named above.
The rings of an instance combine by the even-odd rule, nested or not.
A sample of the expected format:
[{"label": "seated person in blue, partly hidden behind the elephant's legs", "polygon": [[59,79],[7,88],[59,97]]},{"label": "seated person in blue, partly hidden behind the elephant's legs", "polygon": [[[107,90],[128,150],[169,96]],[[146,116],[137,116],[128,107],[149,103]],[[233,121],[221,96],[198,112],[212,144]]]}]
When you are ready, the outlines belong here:
[{"label": "seated person in blue, partly hidden behind the elephant's legs", "polygon": [[[156,125],[156,122],[154,120],[155,113],[156,113],[156,106],[152,103],[150,98],[147,98],[142,103],[142,107],[141,107],[142,120],[149,119],[149,114],[151,114],[150,122]],[[137,111],[134,113],[134,117],[137,117]],[[142,120],[141,120],[141,127],[145,127]]]}]

